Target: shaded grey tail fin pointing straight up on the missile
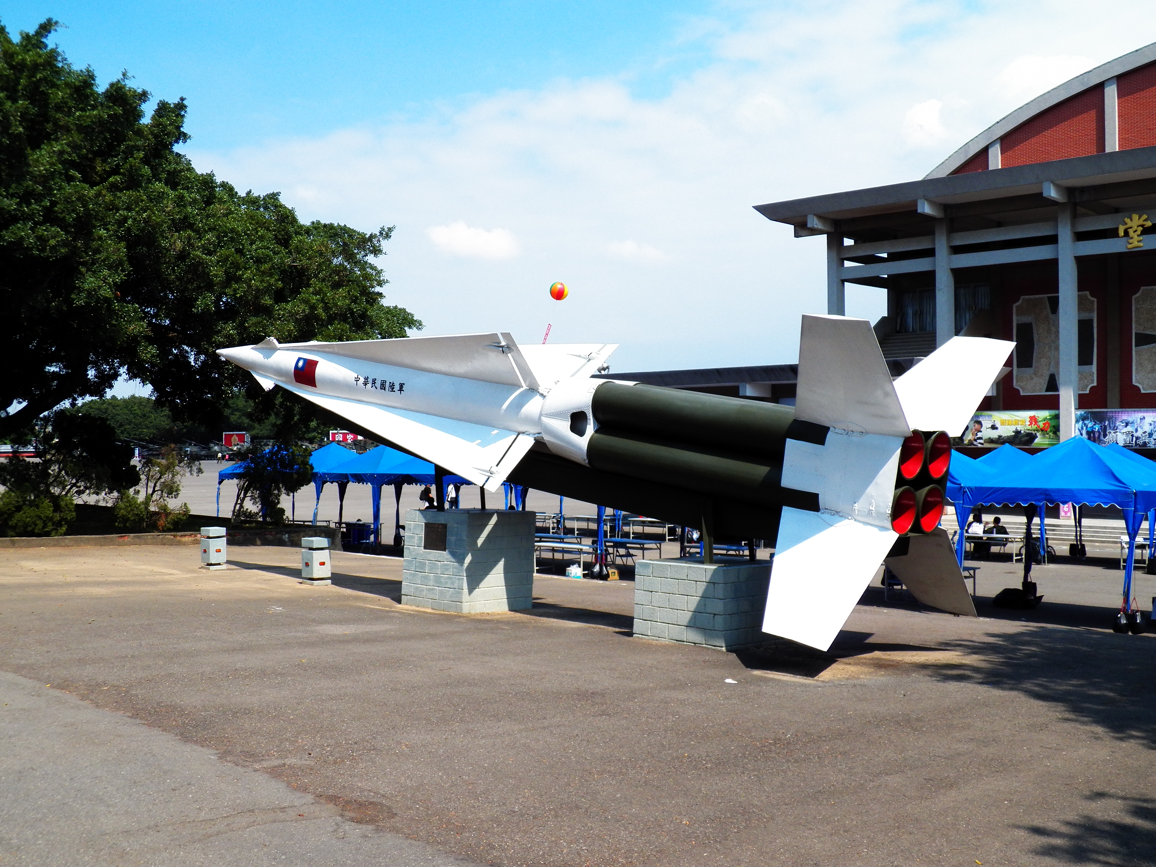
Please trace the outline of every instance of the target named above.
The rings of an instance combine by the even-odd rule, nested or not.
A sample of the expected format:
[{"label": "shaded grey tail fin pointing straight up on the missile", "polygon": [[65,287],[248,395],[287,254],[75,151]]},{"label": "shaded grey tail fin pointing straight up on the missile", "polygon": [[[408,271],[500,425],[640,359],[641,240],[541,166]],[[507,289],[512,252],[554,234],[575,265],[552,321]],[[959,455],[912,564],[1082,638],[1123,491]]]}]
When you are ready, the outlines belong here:
[{"label": "shaded grey tail fin pointing straight up on the missile", "polygon": [[911,433],[866,319],[802,318],[795,418],[858,433]]}]

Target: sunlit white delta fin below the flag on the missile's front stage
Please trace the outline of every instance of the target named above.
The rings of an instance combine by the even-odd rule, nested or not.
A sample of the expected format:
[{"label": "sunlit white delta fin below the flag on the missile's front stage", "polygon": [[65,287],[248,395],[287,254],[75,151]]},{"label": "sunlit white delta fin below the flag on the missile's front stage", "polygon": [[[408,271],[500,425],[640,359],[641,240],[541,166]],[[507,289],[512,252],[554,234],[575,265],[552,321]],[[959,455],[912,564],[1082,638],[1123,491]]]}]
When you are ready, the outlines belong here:
[{"label": "sunlit white delta fin below the flag on the missile's front stage", "polygon": [[529,433],[494,430],[405,409],[386,409],[318,394],[286,383],[281,386],[491,492],[502,487],[502,482],[534,445],[534,437]]}]

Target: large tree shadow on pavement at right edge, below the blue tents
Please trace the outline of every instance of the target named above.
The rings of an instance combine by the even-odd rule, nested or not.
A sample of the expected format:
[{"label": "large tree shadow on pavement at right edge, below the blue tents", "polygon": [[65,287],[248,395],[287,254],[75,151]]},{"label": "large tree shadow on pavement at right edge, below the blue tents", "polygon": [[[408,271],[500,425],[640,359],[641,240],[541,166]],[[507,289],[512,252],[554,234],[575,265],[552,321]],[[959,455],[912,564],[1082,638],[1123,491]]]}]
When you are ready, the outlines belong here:
[{"label": "large tree shadow on pavement at right edge, below the blue tents", "polygon": [[1073,721],[1156,749],[1153,636],[1039,627],[947,646],[968,654],[969,665],[929,669],[929,676],[1020,692],[1059,705]]}]

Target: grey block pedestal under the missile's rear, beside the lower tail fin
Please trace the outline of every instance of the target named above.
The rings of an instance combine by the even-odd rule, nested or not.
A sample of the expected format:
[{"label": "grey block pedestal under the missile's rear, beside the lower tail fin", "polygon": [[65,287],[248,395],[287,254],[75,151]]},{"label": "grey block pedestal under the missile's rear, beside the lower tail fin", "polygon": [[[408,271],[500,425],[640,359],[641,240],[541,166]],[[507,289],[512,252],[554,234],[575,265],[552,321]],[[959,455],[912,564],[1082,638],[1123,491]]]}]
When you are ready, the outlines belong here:
[{"label": "grey block pedestal under the missile's rear, beside the lower tail fin", "polygon": [[738,650],[765,640],[759,627],[769,561],[644,560],[635,566],[635,635]]}]

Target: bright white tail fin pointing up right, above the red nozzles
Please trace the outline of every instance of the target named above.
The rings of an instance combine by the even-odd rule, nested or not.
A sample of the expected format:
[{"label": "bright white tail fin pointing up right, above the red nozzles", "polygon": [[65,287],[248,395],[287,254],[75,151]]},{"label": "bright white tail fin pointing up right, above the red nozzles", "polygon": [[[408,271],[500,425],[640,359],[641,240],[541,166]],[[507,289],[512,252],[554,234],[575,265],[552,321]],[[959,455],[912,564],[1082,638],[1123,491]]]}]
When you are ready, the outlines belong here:
[{"label": "bright white tail fin pointing up right, above the red nozzles", "polygon": [[911,427],[959,436],[1014,348],[1008,340],[951,338],[896,379]]}]

